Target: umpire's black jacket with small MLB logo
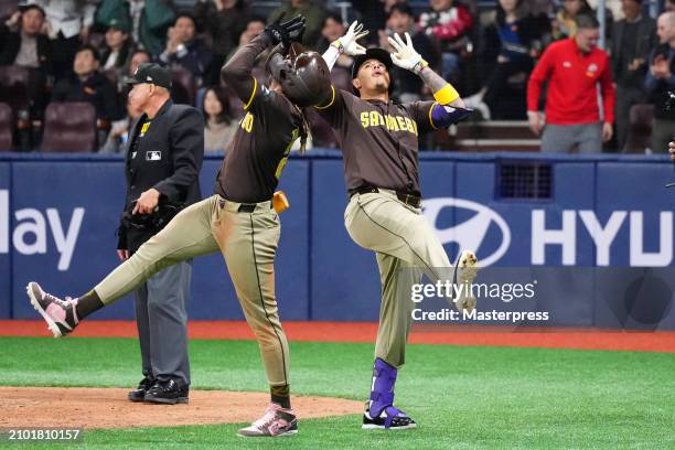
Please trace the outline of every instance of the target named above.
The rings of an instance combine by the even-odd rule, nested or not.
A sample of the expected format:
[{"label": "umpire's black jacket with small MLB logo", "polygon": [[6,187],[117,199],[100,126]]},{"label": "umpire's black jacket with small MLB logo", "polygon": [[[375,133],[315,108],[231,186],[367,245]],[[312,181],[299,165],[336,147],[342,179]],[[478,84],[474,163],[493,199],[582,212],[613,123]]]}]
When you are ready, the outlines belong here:
[{"label": "umpire's black jacket with small MLB logo", "polygon": [[[189,205],[201,200],[204,119],[196,108],[167,100],[152,119],[143,114],[136,121],[127,142],[125,211],[130,211],[151,188],[160,192],[160,204]],[[156,233],[132,226],[120,228],[117,248],[135,253]]]}]

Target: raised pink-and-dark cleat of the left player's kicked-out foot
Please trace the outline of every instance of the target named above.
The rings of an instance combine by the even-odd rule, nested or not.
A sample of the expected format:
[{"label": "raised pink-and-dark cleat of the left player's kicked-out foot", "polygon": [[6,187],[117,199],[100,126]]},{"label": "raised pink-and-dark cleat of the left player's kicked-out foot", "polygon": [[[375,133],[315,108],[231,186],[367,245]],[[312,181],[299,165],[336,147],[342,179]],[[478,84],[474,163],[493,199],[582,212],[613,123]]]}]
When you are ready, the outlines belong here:
[{"label": "raised pink-and-dark cleat of the left player's kicked-out foot", "polygon": [[77,299],[66,297],[65,300],[42,290],[40,285],[31,281],[25,287],[31,304],[47,323],[54,338],[65,336],[73,332],[79,323],[77,319]]}]

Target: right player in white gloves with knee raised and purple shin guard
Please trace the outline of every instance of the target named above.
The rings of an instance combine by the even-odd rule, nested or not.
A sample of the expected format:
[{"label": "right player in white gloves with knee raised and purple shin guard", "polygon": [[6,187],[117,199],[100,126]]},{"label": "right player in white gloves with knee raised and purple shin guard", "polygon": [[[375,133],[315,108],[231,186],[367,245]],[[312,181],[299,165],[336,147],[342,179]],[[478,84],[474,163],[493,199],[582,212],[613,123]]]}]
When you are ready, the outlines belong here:
[{"label": "right player in white gloves with knee raised and purple shin guard", "polygon": [[[470,111],[454,88],[437,75],[413,47],[410,36],[389,39],[395,53],[354,45],[358,26],[323,54],[329,67],[342,52],[354,55],[352,71],[356,95],[330,88],[328,100],[315,109],[335,129],[344,159],[350,202],[344,223],[352,239],[376,254],[382,279],[379,329],[369,400],[363,428],[406,429],[416,426],[394,407],[397,369],[405,362],[410,330],[413,283],[422,272],[433,282],[470,286],[476,258],[463,251],[452,267],[433,229],[421,214],[418,140],[420,132],[446,128]],[[392,64],[419,75],[436,101],[395,104],[389,99]],[[461,310],[472,310],[470,290],[451,299]]]}]

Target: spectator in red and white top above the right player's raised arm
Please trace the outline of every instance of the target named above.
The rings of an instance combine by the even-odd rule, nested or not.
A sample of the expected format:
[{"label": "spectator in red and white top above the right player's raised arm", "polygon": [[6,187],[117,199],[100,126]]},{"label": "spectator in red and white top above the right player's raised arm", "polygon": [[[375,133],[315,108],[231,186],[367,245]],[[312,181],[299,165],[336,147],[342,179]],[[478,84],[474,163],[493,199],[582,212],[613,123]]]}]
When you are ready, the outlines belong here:
[{"label": "spectator in red and white top above the right player's raised arm", "polygon": [[473,28],[473,18],[465,7],[456,4],[454,0],[429,0],[429,4],[431,11],[420,14],[419,25],[440,45],[443,78],[457,78],[460,57],[471,45],[469,32]]}]

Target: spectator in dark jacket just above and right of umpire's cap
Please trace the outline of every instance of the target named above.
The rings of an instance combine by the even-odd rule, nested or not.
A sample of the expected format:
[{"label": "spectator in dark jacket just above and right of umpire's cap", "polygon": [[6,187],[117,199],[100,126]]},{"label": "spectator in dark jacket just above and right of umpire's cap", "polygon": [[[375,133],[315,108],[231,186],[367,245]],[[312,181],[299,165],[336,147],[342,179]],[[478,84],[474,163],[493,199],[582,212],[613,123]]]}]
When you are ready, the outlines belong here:
[{"label": "spectator in dark jacket just above and right of umpire's cap", "polygon": [[211,63],[211,51],[201,39],[195,39],[196,26],[192,15],[179,14],[167,33],[167,49],[159,56],[164,66],[183,67],[201,84]]}]

